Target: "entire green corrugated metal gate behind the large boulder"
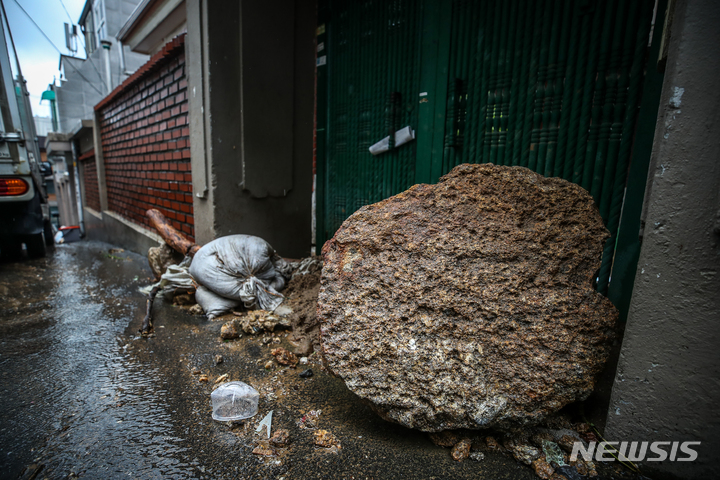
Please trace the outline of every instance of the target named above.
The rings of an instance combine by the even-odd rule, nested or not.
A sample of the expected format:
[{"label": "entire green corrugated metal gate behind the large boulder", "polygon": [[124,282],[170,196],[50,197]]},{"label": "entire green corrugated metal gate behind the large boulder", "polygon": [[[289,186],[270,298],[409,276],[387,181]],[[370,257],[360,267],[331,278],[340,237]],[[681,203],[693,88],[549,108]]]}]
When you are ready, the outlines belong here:
[{"label": "entire green corrugated metal gate behind the large boulder", "polygon": [[[613,235],[598,282],[607,292],[653,6],[321,2],[318,244],[361,206],[460,163],[521,165],[593,195]],[[416,141],[368,152],[407,125]]]}]

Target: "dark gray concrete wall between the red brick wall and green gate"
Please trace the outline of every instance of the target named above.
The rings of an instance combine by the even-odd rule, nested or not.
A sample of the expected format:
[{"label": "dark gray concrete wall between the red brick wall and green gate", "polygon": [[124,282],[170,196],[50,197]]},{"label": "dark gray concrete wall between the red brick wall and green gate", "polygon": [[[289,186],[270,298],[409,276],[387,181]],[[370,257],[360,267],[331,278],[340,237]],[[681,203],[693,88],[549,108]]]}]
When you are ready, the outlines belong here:
[{"label": "dark gray concrete wall between the red brick wall and green gate", "polygon": [[196,238],[251,234],[283,256],[309,255],[314,3],[192,0],[187,18],[193,184],[202,193],[206,169],[210,190],[195,198]]}]

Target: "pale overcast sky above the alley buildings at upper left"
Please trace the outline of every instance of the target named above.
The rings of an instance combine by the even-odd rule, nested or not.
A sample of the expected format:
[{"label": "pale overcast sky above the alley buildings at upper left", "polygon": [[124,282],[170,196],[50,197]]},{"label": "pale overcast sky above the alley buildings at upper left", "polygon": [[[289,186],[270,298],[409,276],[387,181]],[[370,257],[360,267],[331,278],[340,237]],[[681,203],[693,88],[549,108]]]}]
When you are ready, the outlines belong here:
[{"label": "pale overcast sky above the alley buildings at upper left", "polygon": [[[40,95],[47,90],[53,77],[60,78],[58,65],[60,53],[40,33],[38,27],[23,13],[19,5],[35,20],[52,43],[64,54],[71,55],[65,46],[64,23],[77,24],[82,13],[85,0],[0,0],[5,5],[5,12],[10,23],[15,49],[20,58],[20,68],[27,80],[30,91],[30,104],[33,114],[41,117],[50,116],[49,102],[40,104]],[[63,9],[67,8],[67,13]],[[68,16],[69,14],[69,16]],[[84,37],[78,27],[77,56],[85,56]],[[12,55],[12,54],[11,54]],[[12,58],[12,57],[11,57]],[[59,81],[59,80],[58,80]]]}]

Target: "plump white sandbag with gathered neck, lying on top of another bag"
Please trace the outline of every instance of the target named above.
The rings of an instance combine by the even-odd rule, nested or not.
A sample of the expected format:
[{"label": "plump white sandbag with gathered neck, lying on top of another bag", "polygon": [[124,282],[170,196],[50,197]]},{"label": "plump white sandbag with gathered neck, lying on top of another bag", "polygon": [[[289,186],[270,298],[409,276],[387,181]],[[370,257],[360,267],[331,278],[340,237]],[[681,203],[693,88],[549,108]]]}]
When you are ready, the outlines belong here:
[{"label": "plump white sandbag with gathered neck, lying on top of another bag", "polygon": [[193,278],[214,293],[267,311],[282,303],[279,290],[291,270],[269,243],[252,235],[215,239],[198,250],[190,265]]}]

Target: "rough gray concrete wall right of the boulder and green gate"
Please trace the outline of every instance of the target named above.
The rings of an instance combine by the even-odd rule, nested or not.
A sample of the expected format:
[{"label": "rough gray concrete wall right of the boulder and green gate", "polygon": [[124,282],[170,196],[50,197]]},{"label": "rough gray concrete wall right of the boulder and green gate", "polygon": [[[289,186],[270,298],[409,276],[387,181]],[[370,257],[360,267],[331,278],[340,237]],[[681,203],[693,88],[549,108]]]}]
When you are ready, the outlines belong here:
[{"label": "rough gray concrete wall right of the boulder and green gate", "polygon": [[702,442],[695,462],[646,462],[653,478],[720,478],[718,25],[719,2],[677,2],[605,429],[608,440]]}]

